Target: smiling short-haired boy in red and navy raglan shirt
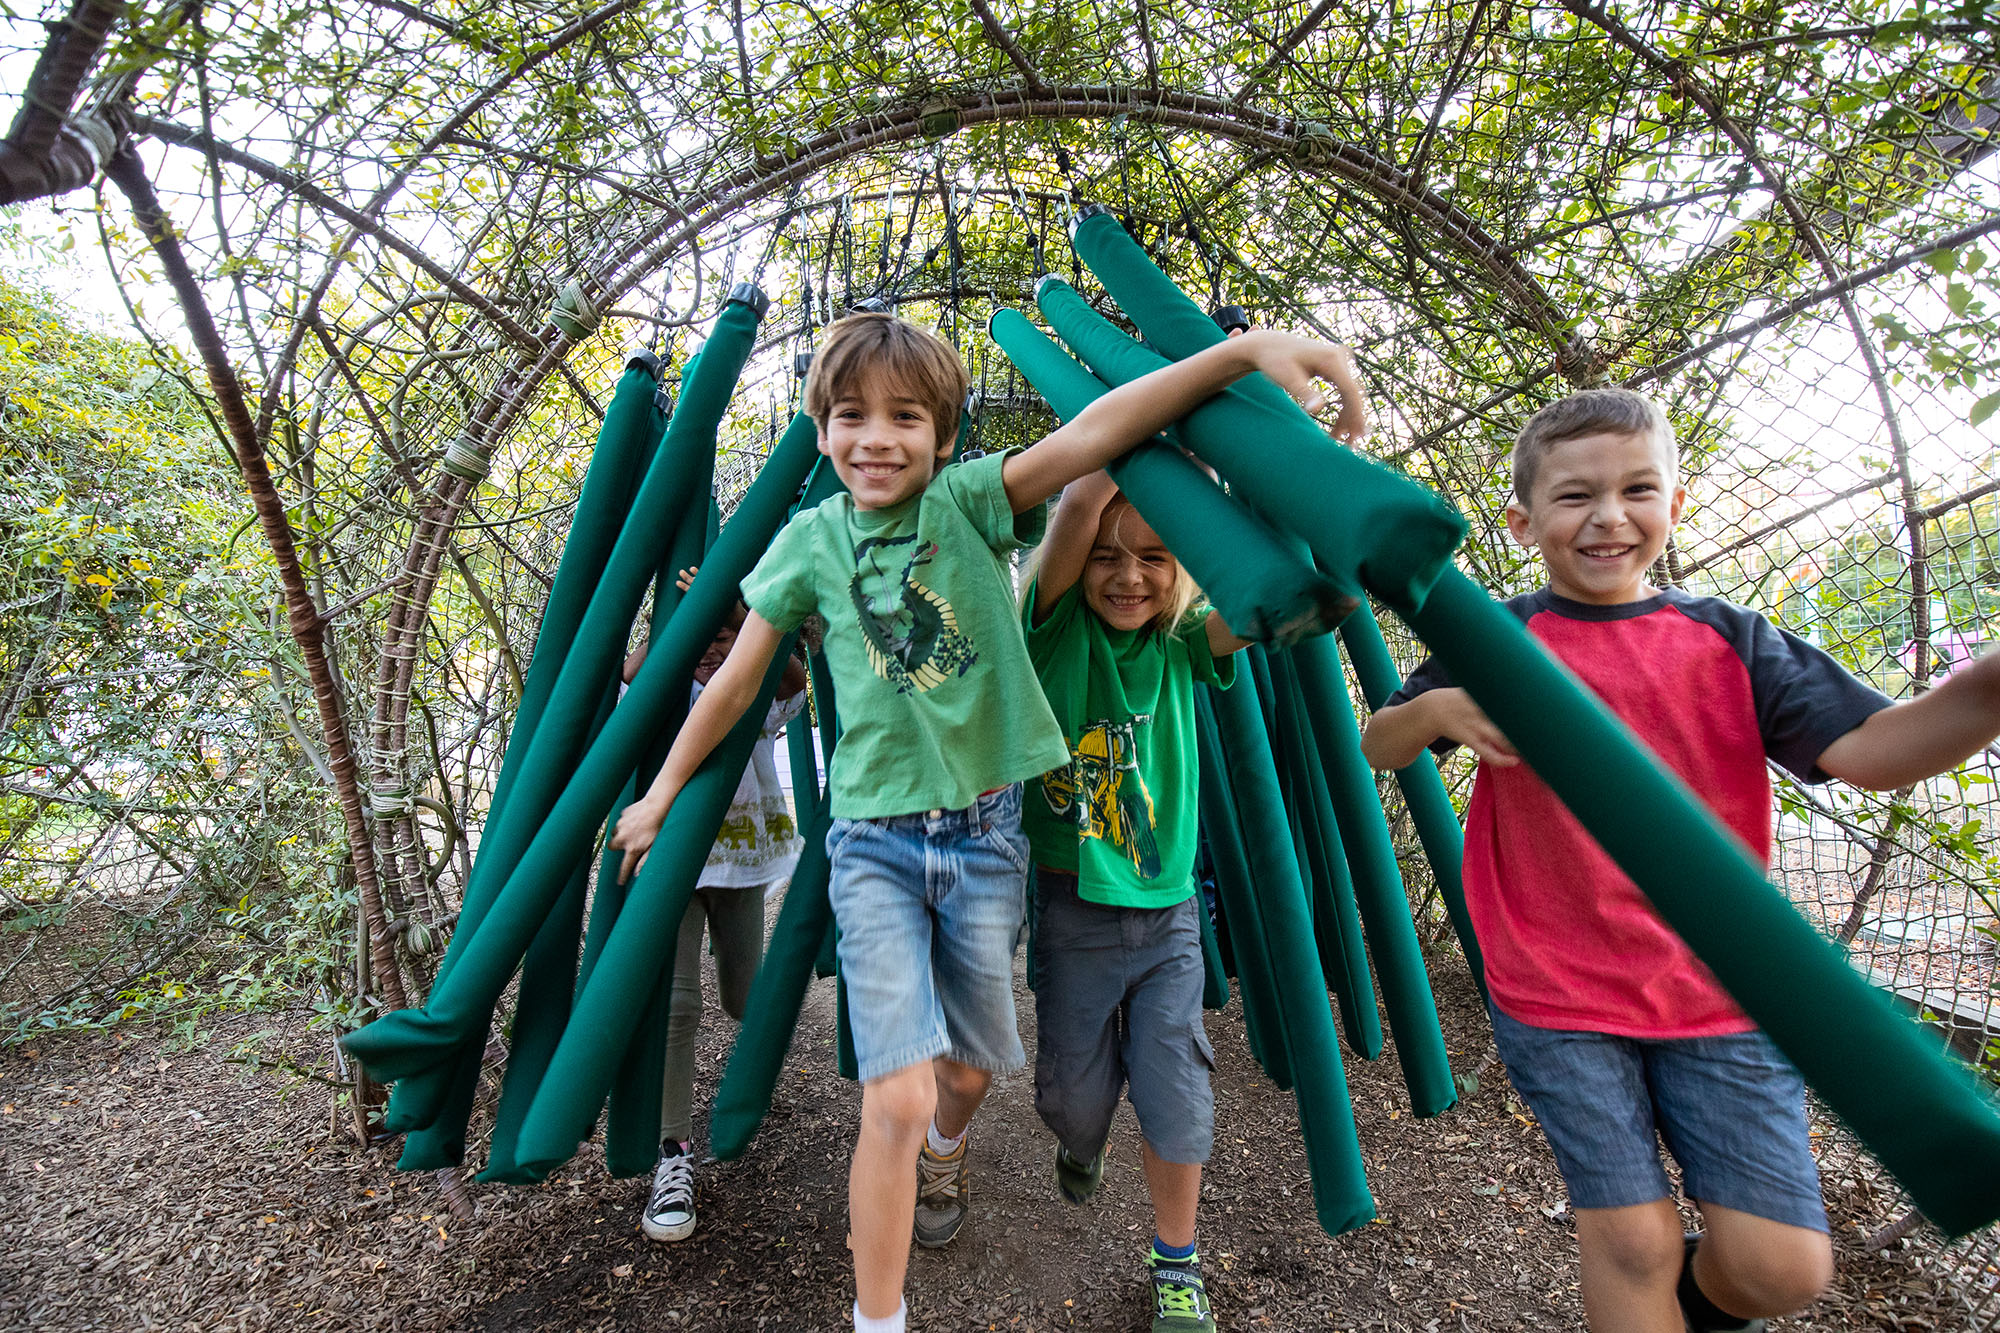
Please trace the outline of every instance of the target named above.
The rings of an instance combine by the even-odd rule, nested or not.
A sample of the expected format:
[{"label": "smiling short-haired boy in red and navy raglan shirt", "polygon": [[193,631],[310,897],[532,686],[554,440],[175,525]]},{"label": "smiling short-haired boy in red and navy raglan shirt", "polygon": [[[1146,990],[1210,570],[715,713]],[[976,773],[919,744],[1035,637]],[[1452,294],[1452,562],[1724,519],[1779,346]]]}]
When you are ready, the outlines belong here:
[{"label": "smiling short-haired boy in red and navy raglan shirt", "polygon": [[[1508,530],[1542,552],[1548,586],[1508,606],[1766,863],[1766,757],[1886,791],[2000,733],[2000,654],[1892,705],[1754,610],[1648,584],[1686,490],[1644,394],[1536,412],[1514,494]],[[1378,769],[1454,745],[1480,757],[1464,883],[1494,1041],[1570,1189],[1590,1327],[1760,1329],[1810,1303],[1832,1249],[1798,1073],[1436,662],[1362,737]],[[1698,1241],[1660,1139],[1702,1209]]]}]

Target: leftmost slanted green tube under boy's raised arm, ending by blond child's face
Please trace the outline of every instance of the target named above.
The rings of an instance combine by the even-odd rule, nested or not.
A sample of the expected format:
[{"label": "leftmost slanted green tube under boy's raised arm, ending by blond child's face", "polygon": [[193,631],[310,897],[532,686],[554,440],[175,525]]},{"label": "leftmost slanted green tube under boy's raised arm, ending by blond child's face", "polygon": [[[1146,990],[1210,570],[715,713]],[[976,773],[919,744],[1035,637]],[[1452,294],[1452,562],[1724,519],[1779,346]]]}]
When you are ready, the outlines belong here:
[{"label": "leftmost slanted green tube under boy's raised arm, ending by blond child's face", "polygon": [[[1054,286],[1060,292],[1052,298],[1076,298]],[[1108,392],[1020,310],[994,314],[990,332],[1058,418],[1070,420]],[[1240,636],[1292,642],[1324,634],[1358,604],[1178,448],[1148,440],[1112,462],[1110,474]]]}]

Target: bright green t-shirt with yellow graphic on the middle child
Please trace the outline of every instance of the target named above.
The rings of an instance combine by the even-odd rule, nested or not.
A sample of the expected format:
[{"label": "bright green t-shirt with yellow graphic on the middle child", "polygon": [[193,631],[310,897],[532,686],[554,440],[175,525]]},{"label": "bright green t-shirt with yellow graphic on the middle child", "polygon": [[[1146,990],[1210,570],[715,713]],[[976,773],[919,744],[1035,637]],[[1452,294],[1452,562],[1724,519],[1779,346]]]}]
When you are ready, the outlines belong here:
[{"label": "bright green t-shirt with yellow graphic on the middle child", "polygon": [[1076,875],[1106,907],[1174,907],[1194,893],[1200,769],[1194,683],[1228,689],[1236,656],[1216,658],[1200,616],[1180,634],[1114,630],[1072,586],[1034,624],[1028,656],[1068,739],[1070,761],[1028,785],[1022,827],[1036,865]]}]

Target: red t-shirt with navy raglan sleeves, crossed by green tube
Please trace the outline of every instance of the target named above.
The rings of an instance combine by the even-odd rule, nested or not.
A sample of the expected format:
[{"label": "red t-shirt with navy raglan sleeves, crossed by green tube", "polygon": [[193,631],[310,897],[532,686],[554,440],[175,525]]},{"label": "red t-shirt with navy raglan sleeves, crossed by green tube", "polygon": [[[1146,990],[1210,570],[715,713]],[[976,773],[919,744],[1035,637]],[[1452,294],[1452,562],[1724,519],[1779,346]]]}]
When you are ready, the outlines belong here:
[{"label": "red t-shirt with navy raglan sleeves, crossed by green tube", "polygon": [[[1592,606],[1542,588],[1508,608],[1760,865],[1770,863],[1772,829],[1766,757],[1808,783],[1826,781],[1820,753],[1890,703],[1820,648],[1714,596],[1670,588]],[[1426,660],[1388,703],[1448,685]],[[1480,765],[1464,883],[1486,985],[1512,1019],[1620,1037],[1756,1027],[1526,765]]]}]

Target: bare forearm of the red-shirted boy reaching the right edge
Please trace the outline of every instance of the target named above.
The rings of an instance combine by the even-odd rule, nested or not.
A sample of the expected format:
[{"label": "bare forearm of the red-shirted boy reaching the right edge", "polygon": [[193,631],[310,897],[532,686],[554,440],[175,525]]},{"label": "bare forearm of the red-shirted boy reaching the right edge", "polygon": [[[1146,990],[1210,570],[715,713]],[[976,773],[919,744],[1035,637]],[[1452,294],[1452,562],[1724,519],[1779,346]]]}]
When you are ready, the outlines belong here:
[{"label": "bare forearm of the red-shirted boy reaching the right edge", "polygon": [[1958,669],[1936,689],[1882,709],[1820,753],[1844,783],[1894,791],[1950,773],[2000,735],[2000,652]]}]

